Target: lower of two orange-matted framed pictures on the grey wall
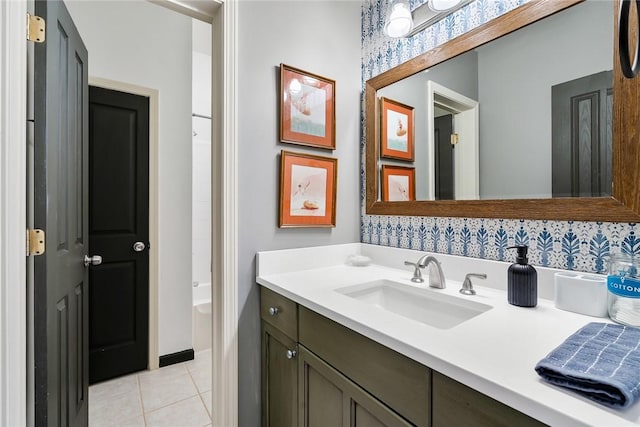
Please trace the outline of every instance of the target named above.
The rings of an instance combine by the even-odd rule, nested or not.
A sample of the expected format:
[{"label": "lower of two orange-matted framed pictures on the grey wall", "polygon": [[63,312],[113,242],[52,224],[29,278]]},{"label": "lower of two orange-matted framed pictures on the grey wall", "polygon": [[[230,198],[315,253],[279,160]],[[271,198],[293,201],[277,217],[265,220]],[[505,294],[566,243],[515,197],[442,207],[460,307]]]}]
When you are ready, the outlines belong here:
[{"label": "lower of two orange-matted framed pictures on the grey wall", "polygon": [[338,159],[282,150],[278,226],[335,227]]}]

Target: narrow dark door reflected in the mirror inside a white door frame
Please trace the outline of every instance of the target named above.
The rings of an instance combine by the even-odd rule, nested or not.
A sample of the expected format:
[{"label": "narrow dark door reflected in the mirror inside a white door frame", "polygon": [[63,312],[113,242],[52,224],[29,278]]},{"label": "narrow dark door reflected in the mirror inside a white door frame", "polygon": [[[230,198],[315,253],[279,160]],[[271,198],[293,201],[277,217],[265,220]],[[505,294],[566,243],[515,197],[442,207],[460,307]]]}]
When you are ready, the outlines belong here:
[{"label": "narrow dark door reflected in the mirror inside a white door frame", "polygon": [[436,117],[433,120],[434,148],[435,148],[435,184],[436,200],[453,200],[453,171],[454,160],[451,144],[451,134],[453,133],[453,116]]}]

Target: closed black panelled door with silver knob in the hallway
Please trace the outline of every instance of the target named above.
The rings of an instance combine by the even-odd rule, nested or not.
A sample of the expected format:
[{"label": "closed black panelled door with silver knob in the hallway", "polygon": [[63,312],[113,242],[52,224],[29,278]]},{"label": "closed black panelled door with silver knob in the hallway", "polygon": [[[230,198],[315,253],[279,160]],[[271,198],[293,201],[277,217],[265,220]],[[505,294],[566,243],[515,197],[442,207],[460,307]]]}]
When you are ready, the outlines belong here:
[{"label": "closed black panelled door with silver knob in the hallway", "polygon": [[147,368],[149,99],[89,90],[89,381]]}]

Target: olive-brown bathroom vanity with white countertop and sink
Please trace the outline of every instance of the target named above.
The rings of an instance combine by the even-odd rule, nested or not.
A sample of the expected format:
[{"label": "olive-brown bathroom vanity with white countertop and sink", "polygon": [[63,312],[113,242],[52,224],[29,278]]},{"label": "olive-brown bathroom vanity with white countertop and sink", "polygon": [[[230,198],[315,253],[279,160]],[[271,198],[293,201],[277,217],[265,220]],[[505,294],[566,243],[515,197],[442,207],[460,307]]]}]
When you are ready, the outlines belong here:
[{"label": "olive-brown bathroom vanity with white countertop and sink", "polygon": [[[349,265],[353,254],[373,262]],[[639,405],[605,408],[533,369],[577,329],[606,319],[545,299],[534,309],[509,305],[507,263],[437,254],[447,287],[428,289],[403,265],[422,254],[366,244],[258,254],[263,425],[637,425]],[[548,297],[554,271],[539,270]],[[469,272],[489,277],[474,283],[476,295],[461,295]],[[412,297],[372,296],[383,288]],[[446,307],[434,318],[411,308],[432,299]]]}]

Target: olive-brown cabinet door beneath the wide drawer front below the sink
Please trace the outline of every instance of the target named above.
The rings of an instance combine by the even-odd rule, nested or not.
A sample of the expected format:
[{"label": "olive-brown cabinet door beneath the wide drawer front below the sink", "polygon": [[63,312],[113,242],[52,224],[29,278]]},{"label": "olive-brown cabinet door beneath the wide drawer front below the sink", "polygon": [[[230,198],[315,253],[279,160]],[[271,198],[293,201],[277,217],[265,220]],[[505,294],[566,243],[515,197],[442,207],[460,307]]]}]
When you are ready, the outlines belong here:
[{"label": "olive-brown cabinet door beneath the wide drawer front below the sink", "polygon": [[303,346],[298,366],[301,427],[412,425]]}]

